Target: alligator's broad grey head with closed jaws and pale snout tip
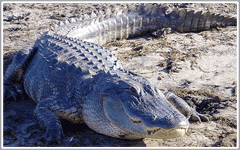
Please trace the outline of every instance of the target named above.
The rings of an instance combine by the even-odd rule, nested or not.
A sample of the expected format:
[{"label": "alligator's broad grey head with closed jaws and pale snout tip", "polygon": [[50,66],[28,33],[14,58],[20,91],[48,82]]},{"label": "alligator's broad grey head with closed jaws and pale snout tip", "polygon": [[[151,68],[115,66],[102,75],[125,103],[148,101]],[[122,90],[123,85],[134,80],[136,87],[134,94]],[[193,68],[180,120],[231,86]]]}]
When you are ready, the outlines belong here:
[{"label": "alligator's broad grey head with closed jaws and pale snout tip", "polygon": [[130,73],[103,75],[83,106],[93,130],[117,138],[183,136],[189,122],[147,79]]}]

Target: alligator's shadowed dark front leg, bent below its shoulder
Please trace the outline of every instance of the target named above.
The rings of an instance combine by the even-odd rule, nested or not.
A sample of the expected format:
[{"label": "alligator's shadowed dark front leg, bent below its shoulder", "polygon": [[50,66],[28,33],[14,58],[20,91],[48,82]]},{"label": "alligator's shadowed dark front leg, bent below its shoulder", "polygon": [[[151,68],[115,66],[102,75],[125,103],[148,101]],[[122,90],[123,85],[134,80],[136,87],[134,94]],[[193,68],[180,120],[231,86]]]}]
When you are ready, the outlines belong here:
[{"label": "alligator's shadowed dark front leg, bent below its shoulder", "polygon": [[38,102],[34,110],[40,126],[46,129],[43,137],[39,138],[45,140],[45,145],[56,145],[62,141],[63,130],[59,118],[51,111],[53,105],[52,99],[44,99]]}]

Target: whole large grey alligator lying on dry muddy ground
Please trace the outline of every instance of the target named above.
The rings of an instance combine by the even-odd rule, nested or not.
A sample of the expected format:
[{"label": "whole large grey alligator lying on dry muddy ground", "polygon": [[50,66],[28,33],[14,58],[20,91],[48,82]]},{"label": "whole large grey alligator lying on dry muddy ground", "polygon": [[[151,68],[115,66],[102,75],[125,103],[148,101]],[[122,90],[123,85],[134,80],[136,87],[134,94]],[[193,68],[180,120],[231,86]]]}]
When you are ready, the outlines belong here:
[{"label": "whole large grey alligator lying on dry muddy ground", "polygon": [[34,114],[46,131],[41,137],[46,145],[61,142],[60,119],[86,123],[98,133],[121,139],[182,137],[189,119],[208,117],[123,69],[101,45],[166,27],[201,32],[236,26],[237,21],[186,8],[166,10],[161,5],[129,5],[56,25],[15,54],[4,75],[4,100],[26,92],[37,103]]}]

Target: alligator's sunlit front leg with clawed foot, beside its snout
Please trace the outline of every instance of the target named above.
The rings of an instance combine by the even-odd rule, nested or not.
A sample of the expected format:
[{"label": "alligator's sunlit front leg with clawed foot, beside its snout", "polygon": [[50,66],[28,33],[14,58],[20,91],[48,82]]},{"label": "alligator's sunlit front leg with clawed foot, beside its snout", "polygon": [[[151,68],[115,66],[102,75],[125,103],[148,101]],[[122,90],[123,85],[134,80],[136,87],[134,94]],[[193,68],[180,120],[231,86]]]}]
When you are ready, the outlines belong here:
[{"label": "alligator's sunlit front leg with clawed foot, beside its snout", "polygon": [[180,111],[187,119],[192,121],[209,121],[209,119],[198,113],[192,107],[190,107],[183,99],[176,96],[171,92],[164,92],[166,99],[178,110]]}]

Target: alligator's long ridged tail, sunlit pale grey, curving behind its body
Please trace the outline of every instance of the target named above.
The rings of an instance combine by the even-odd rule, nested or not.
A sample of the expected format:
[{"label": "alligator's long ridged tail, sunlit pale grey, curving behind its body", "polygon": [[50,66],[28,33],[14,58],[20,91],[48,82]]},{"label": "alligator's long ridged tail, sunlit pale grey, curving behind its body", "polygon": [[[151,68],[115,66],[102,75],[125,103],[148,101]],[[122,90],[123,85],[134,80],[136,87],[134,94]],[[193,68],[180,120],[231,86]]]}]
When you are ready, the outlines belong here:
[{"label": "alligator's long ridged tail, sunlit pale grey, curving behind its body", "polygon": [[54,28],[54,32],[96,44],[127,39],[161,28],[178,32],[201,32],[214,27],[236,26],[234,17],[194,11],[186,8],[169,8],[161,5],[139,4],[119,10],[106,10],[71,19]]}]

